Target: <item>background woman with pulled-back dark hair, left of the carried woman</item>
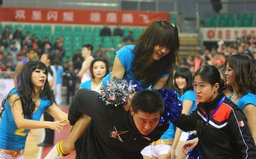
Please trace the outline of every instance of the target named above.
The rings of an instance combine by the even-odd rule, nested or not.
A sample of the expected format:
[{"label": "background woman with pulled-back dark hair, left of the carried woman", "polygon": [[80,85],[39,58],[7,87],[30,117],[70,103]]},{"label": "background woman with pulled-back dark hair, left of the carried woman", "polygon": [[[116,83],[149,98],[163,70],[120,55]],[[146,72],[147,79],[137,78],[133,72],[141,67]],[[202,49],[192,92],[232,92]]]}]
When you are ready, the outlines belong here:
[{"label": "background woman with pulled-back dark hair, left of the carried woman", "polygon": [[91,80],[81,83],[80,88],[96,90],[102,83],[102,78],[109,74],[108,61],[104,58],[94,58],[90,64]]}]

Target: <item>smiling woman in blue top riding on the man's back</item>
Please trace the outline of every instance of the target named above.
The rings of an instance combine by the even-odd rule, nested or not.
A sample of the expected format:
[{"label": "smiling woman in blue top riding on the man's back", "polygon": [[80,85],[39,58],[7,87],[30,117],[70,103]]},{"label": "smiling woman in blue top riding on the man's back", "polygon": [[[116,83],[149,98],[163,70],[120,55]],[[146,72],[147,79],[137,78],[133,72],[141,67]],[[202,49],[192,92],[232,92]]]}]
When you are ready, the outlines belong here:
[{"label": "smiling woman in blue top riding on the man's back", "polygon": [[[102,87],[105,87],[107,81],[115,76],[126,81],[137,82],[143,88],[151,85],[156,89],[165,87],[169,72],[175,67],[179,46],[177,26],[164,20],[155,20],[132,45],[124,46],[116,52],[113,70],[102,79]],[[131,108],[131,98],[125,105],[126,111]],[[84,133],[85,125],[89,122],[76,121],[69,138],[58,142],[46,159],[55,158],[56,154],[62,156],[75,150],[74,142]],[[57,147],[61,147],[61,150]]]}]

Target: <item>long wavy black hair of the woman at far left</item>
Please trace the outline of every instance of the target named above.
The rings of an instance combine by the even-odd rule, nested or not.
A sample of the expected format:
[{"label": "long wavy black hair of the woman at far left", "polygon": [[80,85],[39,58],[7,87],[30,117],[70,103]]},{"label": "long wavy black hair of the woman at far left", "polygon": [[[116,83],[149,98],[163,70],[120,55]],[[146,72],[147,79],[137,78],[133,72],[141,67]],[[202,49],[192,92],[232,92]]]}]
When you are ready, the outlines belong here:
[{"label": "long wavy black hair of the woman at far left", "polygon": [[[42,70],[45,70],[46,73],[48,73],[47,66],[41,61],[33,60],[33,61],[28,61],[26,64],[24,64],[20,72],[20,86],[17,87],[18,88],[17,93],[19,93],[20,98],[17,98],[15,100],[17,101],[20,99],[22,109],[23,109],[23,115],[27,116],[28,118],[30,118],[31,114],[35,111],[35,102],[32,100],[32,95],[35,95],[35,89],[34,89],[34,85],[31,78],[32,72],[35,69],[42,69]],[[12,92],[12,90],[10,92]],[[10,96],[10,93],[4,98],[2,102],[0,117],[2,117],[3,111],[5,109],[5,103],[6,103],[6,100],[8,100],[9,96]],[[40,97],[45,100],[46,99],[50,100],[49,106],[55,103],[55,99],[54,99],[51,87],[49,85],[48,79],[44,84],[44,88],[40,92]]]}]

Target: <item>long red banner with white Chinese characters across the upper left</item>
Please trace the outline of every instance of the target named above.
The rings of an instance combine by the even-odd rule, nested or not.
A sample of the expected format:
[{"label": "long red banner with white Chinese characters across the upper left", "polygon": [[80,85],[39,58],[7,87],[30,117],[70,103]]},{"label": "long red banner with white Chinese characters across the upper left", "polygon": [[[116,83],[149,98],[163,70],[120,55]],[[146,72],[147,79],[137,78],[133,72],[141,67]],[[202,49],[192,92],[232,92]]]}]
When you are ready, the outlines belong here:
[{"label": "long red banner with white Chinese characters across the upper left", "polygon": [[169,12],[0,7],[0,21],[6,22],[147,26],[157,19],[169,21]]}]

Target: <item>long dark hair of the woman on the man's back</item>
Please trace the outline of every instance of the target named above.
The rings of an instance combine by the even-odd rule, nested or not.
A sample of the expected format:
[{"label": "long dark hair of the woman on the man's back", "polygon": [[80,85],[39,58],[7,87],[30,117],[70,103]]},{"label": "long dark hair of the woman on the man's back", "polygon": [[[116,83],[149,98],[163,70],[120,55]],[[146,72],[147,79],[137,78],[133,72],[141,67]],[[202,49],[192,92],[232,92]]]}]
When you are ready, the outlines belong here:
[{"label": "long dark hair of the woman on the man's back", "polygon": [[[180,47],[178,29],[175,25],[164,20],[156,20],[152,22],[142,33],[142,35],[133,43],[135,57],[132,62],[131,70],[138,81],[144,81],[143,87],[154,84],[160,75],[168,73],[175,67],[176,58]],[[154,46],[167,46],[170,52],[154,65],[146,68],[145,65],[150,60]]]}]

